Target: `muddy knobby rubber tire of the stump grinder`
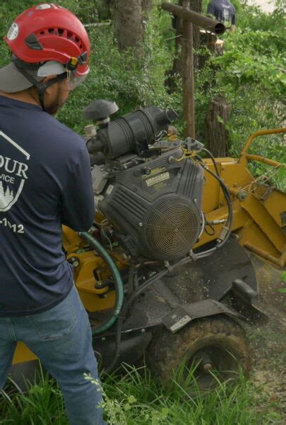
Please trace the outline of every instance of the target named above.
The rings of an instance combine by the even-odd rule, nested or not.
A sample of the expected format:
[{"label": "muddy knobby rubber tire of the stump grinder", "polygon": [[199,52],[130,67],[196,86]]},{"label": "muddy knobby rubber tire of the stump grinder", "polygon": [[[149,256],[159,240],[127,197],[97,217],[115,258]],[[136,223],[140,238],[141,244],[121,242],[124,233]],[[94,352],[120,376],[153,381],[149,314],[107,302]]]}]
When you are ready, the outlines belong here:
[{"label": "muddy knobby rubber tire of the stump grinder", "polygon": [[220,314],[203,319],[196,319],[176,334],[168,329],[160,329],[153,334],[153,339],[146,351],[146,364],[150,371],[158,375],[162,382],[174,376],[174,371],[184,359],[191,359],[202,348],[215,346],[232,353],[235,365],[232,370],[242,367],[244,375],[249,374],[249,343],[244,329],[230,317]]}]

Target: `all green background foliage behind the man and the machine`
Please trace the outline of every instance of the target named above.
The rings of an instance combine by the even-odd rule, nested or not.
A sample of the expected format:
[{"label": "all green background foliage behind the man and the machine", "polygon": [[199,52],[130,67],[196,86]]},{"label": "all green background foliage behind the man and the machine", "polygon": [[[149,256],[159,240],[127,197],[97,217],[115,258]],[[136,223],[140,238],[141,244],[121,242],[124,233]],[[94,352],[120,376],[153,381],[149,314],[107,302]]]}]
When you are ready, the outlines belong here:
[{"label": "all green background foliage behind the man and the machine", "polygon": [[[160,0],[153,0],[145,15],[143,57],[134,50],[119,52],[114,35],[112,10],[116,0],[57,0],[57,4],[76,13],[83,23],[99,23],[87,27],[91,40],[90,76],[59,113],[59,119],[76,131],[85,122],[81,111],[96,98],[109,98],[119,105],[120,115],[156,104],[181,111],[181,82],[168,94],[165,72],[172,67],[175,30],[169,14],[160,9]],[[175,2],[175,0],[174,0]],[[13,18],[35,0],[4,0],[0,4],[0,35],[4,36]],[[150,3],[150,2],[148,2]],[[208,0],[203,0],[203,10]],[[210,57],[206,47],[196,49],[196,55],[209,55],[204,69],[196,70],[197,137],[204,142],[205,114],[210,99],[225,96],[232,103],[232,115],[226,123],[231,135],[232,154],[237,155],[249,135],[261,128],[277,128],[283,123],[285,105],[285,37],[283,37],[282,0],[276,2],[272,14],[254,6],[233,1],[237,8],[237,30],[223,35],[225,53]],[[103,24],[103,25],[102,25]],[[0,44],[0,66],[9,62],[4,42]],[[184,122],[179,121],[179,130]],[[271,136],[256,142],[256,151],[285,161],[285,142]],[[256,165],[256,172],[263,172]]]}]

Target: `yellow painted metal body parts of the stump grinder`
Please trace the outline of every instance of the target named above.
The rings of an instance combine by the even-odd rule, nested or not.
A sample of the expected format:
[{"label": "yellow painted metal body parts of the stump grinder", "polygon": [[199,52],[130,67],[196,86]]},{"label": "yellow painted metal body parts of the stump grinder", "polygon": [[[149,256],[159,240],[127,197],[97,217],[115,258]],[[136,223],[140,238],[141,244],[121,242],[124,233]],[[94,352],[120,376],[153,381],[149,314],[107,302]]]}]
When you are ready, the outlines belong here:
[{"label": "yellow painted metal body parts of the stump grinder", "polygon": [[[283,268],[286,264],[286,193],[261,182],[261,179],[255,179],[247,167],[247,162],[250,160],[263,162],[275,168],[284,167],[285,164],[247,152],[255,137],[285,131],[275,129],[256,132],[246,142],[239,159],[228,157],[215,159],[220,177],[232,194],[232,232],[237,235],[239,244],[276,268]],[[215,172],[210,159],[204,159],[203,162]],[[223,221],[227,217],[227,205],[220,185],[208,173],[205,173],[203,187],[203,212],[208,222]],[[96,220],[104,218],[98,215]],[[194,248],[217,239],[223,225],[223,222],[214,225],[215,233],[211,236],[203,232]],[[112,309],[115,302],[114,290],[100,288],[100,282],[108,278],[109,271],[95,251],[83,249],[85,244],[86,242],[78,237],[76,232],[63,227],[64,249],[67,252],[67,259],[76,262],[74,279],[83,305],[89,312]],[[112,248],[109,254],[119,269],[129,266],[129,256],[120,246]],[[23,363],[35,358],[23,343],[19,343],[13,363]]]}]

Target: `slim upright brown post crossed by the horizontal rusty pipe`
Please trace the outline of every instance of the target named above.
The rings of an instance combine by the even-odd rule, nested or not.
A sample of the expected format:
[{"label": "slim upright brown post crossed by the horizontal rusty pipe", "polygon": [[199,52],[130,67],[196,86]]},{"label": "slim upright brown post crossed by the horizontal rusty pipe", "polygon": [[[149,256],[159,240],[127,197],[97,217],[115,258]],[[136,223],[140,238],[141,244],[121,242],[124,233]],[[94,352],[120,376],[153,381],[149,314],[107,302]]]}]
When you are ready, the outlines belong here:
[{"label": "slim upright brown post crossed by the horizontal rusty pipe", "polygon": [[[188,6],[189,0],[184,0],[183,7],[189,8]],[[193,84],[193,24],[185,20],[183,21],[183,37],[181,39],[181,65],[186,136],[194,138],[196,128]]]}]

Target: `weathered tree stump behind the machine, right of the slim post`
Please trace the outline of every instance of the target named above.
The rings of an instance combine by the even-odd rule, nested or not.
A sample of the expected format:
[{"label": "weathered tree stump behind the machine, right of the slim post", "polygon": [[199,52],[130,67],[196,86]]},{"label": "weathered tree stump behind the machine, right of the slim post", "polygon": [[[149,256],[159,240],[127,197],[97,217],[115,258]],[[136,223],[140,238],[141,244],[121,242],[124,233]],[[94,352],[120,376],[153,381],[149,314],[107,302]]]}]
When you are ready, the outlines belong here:
[{"label": "weathered tree stump behind the machine, right of the slim post", "polygon": [[[210,101],[206,116],[205,140],[214,157],[226,157],[230,149],[230,135],[224,123],[230,119],[231,111],[231,104],[227,103],[223,96],[216,96]],[[223,120],[223,123],[218,120],[218,117]]]}]

